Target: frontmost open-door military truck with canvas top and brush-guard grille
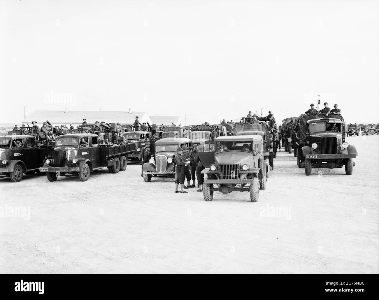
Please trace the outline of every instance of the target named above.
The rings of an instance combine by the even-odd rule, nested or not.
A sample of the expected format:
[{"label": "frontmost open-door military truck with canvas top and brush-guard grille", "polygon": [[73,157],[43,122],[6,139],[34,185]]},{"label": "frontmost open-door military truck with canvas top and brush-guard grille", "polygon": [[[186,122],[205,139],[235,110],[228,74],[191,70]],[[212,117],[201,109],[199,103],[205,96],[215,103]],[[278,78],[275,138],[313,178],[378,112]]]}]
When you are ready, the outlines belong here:
[{"label": "frontmost open-door military truck with canvas top and brush-guard grille", "polygon": [[235,136],[217,137],[208,143],[213,143],[210,147],[213,153],[198,152],[201,161],[214,157],[209,168],[201,172],[207,174],[203,185],[204,200],[212,201],[214,191],[223,194],[249,191],[250,201],[257,202],[259,189],[266,188],[269,176],[269,165],[263,155],[262,136],[243,135],[240,132]]}]

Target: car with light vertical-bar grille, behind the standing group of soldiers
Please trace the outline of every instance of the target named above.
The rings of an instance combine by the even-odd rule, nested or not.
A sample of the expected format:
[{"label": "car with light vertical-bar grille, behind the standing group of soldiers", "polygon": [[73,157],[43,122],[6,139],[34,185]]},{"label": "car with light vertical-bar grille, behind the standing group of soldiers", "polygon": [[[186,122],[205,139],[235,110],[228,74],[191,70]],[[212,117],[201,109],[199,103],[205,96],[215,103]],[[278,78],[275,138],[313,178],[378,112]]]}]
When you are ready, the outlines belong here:
[{"label": "car with light vertical-bar grille, behind the standing group of soldiers", "polygon": [[154,153],[148,163],[142,166],[143,179],[150,182],[152,177],[158,175],[170,176],[175,174],[173,168],[174,156],[177,154],[176,149],[186,145],[192,147],[192,141],[189,138],[162,138],[155,142]]}]

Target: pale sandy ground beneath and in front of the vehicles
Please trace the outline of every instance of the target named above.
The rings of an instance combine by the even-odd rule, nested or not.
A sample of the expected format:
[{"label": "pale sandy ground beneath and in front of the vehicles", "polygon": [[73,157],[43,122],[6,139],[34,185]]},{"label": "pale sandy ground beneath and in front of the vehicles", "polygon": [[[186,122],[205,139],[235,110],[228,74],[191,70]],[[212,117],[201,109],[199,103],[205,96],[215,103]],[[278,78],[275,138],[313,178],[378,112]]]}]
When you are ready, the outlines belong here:
[{"label": "pale sandy ground beneath and in front of the vehicles", "polygon": [[0,218],[0,272],[378,273],[379,135],[364,138],[346,140],[359,152],[352,176],[305,176],[278,152],[257,203],[174,194],[172,179],[145,183],[135,163],[87,182],[1,179],[0,207],[30,207],[30,219]]}]

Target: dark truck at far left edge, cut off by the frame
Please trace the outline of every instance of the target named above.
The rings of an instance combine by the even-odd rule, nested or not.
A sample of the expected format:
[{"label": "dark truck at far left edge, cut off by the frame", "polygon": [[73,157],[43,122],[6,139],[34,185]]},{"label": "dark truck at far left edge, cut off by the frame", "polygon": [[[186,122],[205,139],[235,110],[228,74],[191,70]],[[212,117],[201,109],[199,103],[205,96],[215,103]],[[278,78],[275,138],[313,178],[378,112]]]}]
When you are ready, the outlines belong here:
[{"label": "dark truck at far left edge, cut off by the frame", "polygon": [[[20,145],[16,145],[16,141]],[[31,135],[0,136],[0,177],[19,182],[23,174],[34,174],[44,165],[46,155],[54,149],[54,142],[38,142]]]}]

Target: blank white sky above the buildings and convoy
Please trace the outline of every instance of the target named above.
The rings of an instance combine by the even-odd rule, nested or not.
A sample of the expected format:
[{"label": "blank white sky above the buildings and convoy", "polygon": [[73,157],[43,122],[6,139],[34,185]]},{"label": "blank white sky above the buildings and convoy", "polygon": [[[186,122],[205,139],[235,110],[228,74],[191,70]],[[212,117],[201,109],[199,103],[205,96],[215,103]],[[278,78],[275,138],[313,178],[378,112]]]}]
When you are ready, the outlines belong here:
[{"label": "blank white sky above the buildings and convoy", "polygon": [[263,107],[279,122],[317,94],[347,122],[379,122],[378,9],[362,0],[0,0],[0,123],[19,123],[24,105],[27,114],[130,108],[186,115],[187,125]]}]

